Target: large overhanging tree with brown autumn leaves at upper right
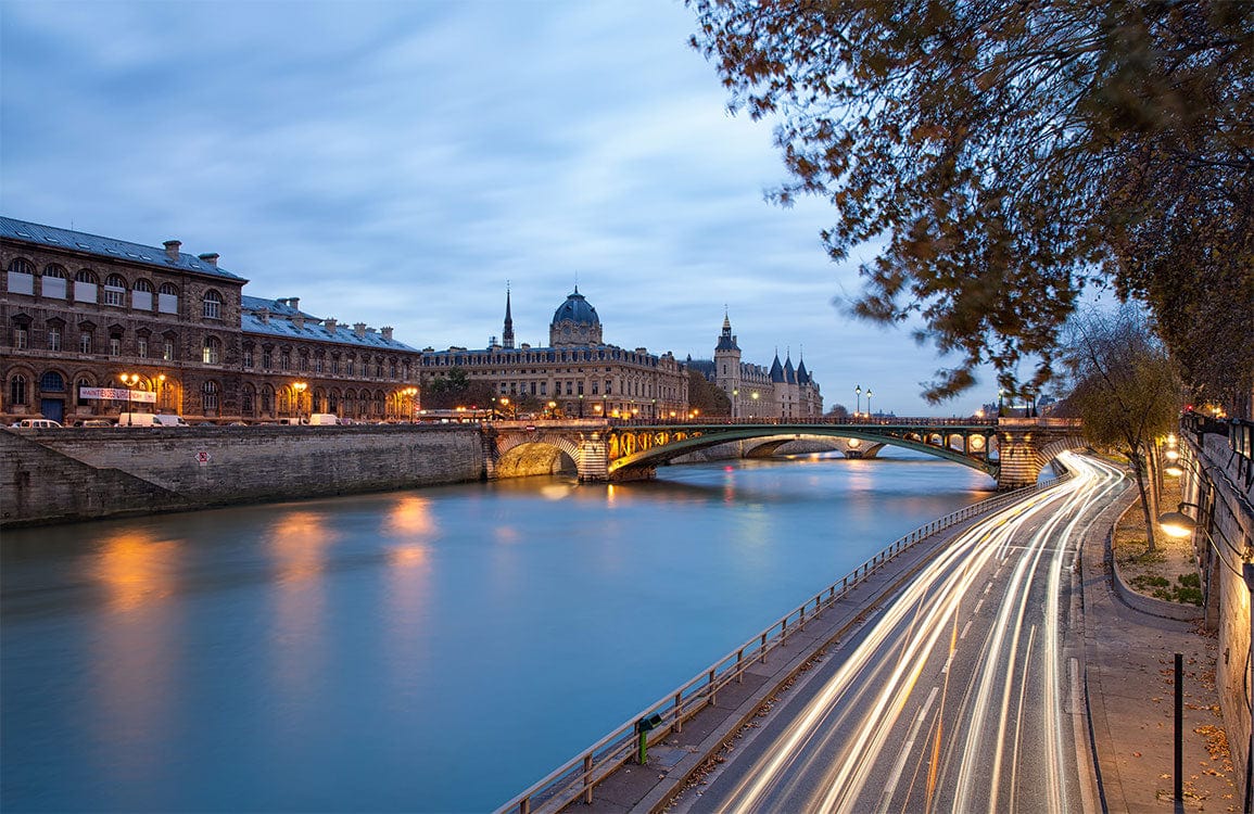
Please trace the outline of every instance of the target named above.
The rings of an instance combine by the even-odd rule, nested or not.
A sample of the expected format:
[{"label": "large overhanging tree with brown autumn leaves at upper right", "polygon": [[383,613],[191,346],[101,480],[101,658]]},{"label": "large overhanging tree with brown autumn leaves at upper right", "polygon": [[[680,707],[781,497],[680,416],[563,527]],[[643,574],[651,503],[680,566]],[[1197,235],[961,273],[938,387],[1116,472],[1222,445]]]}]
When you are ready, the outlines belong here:
[{"label": "large overhanging tree with brown autumn leaves at upper right", "polygon": [[880,246],[846,307],[959,354],[927,398],[982,362],[1040,391],[1090,285],[1146,302],[1193,386],[1230,389],[1188,360],[1204,315],[1254,320],[1254,4],[688,4],[730,107],[779,117],[772,198],[826,197],[835,261]]}]

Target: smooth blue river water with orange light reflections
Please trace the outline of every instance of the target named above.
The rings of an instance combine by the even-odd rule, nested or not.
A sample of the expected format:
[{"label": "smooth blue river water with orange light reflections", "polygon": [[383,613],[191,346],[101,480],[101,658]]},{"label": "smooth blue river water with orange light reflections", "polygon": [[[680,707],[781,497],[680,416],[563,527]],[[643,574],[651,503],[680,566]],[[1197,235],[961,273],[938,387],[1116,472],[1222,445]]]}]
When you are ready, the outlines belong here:
[{"label": "smooth blue river water with orange light reflections", "polygon": [[0,809],[492,809],[993,489],[885,454],[6,531]]}]

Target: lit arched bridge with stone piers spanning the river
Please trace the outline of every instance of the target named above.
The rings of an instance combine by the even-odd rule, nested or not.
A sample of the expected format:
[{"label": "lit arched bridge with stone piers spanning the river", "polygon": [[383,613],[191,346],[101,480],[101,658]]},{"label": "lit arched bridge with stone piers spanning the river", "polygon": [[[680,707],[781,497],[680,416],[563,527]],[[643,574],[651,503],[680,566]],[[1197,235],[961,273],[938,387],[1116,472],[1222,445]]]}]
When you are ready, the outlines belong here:
[{"label": "lit arched bridge with stone piers spanning the river", "polygon": [[795,440],[826,441],[845,458],[913,449],[978,469],[998,489],[1033,484],[1058,453],[1087,447],[1073,419],[574,419],[485,424],[484,459],[489,479],[573,468],[579,480],[638,480],[712,447],[739,444],[739,455],[760,457]]}]

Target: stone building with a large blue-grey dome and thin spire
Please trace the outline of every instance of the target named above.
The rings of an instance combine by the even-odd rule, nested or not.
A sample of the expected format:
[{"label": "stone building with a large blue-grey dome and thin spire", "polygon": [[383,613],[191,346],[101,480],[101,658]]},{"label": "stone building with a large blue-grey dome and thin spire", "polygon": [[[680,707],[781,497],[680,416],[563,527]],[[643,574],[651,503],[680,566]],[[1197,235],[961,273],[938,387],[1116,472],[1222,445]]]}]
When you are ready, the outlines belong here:
[{"label": "stone building with a large blue-grey dome and thin spire", "polygon": [[[482,350],[450,347],[423,352],[424,379],[460,369],[489,380],[498,398],[533,396],[544,409],[569,418],[681,418],[688,406],[687,371],[673,354],[627,350],[603,340],[597,310],[579,293],[553,312],[547,347],[514,347],[509,295],[502,341]],[[553,408],[548,408],[552,403]]]}]

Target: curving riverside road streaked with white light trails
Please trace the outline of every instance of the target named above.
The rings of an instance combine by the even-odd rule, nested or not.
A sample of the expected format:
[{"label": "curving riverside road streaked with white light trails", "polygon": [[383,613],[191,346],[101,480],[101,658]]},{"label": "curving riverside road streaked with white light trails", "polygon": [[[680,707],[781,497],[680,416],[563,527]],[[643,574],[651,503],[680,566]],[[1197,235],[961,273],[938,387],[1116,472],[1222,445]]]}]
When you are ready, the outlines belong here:
[{"label": "curving riverside road streaked with white light trails", "polygon": [[1066,631],[1077,541],[1129,484],[1063,462],[1073,478],[958,537],[672,810],[1095,810]]}]

